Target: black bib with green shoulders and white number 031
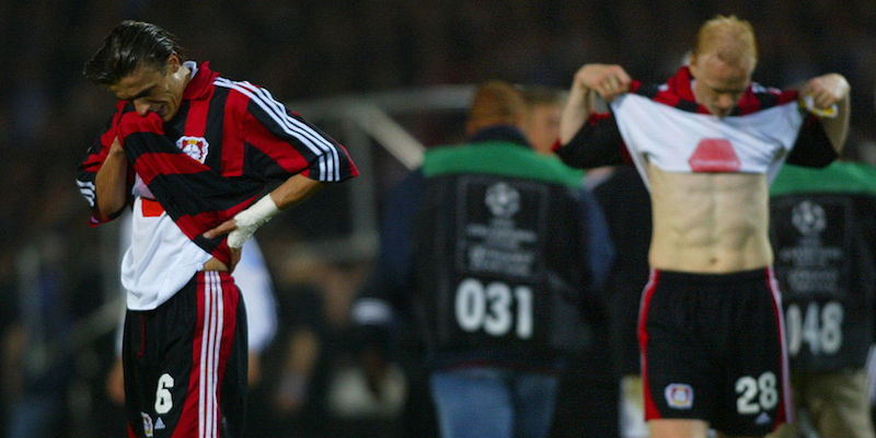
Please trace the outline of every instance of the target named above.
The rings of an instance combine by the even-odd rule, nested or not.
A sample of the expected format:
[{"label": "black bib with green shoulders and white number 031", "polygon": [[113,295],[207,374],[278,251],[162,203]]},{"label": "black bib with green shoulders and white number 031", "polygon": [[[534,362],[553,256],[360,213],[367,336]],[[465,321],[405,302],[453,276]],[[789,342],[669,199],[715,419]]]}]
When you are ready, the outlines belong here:
[{"label": "black bib with green shoulders and white number 031", "polygon": [[508,142],[436,148],[423,171],[416,302],[433,350],[533,357],[581,347],[583,174]]}]

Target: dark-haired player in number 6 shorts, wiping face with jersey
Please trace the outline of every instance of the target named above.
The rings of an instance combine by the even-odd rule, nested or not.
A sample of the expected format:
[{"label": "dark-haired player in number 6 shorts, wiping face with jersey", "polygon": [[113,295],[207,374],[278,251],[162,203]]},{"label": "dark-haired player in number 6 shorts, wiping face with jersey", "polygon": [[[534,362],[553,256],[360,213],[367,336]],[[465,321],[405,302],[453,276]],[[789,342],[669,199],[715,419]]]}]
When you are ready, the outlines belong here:
[{"label": "dark-haired player in number 6 shorts, wiping face with jersey", "polygon": [[129,435],[241,437],[246,320],[230,270],[260,226],[358,172],[267,90],[185,60],[157,25],[122,22],[84,74],[118,97],[78,175],[92,224],[132,211],[122,262]]}]

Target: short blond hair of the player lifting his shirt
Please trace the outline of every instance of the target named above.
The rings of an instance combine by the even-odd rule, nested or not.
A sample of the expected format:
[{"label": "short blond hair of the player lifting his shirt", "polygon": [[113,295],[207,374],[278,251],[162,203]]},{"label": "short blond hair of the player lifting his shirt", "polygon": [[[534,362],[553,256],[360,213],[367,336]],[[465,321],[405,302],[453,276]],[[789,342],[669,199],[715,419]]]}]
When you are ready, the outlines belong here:
[{"label": "short blond hair of the player lifting his shirt", "polygon": [[753,68],[758,61],[754,27],[736,15],[717,15],[700,26],[693,54],[696,56],[713,54],[724,62],[737,66],[750,61]]}]

